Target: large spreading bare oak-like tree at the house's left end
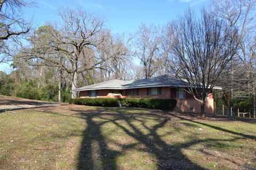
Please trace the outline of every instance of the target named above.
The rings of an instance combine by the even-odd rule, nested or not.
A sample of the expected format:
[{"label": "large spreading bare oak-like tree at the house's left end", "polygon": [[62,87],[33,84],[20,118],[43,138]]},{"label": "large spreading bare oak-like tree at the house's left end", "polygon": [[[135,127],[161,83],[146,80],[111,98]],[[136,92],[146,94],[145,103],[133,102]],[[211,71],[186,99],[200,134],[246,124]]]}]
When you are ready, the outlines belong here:
[{"label": "large spreading bare oak-like tree at the house's left end", "polygon": [[[77,9],[59,11],[62,22],[57,26],[49,24],[44,27],[44,37],[36,37],[31,43],[36,48],[23,50],[28,60],[41,58],[47,66],[59,66],[71,75],[71,89],[77,88],[77,74],[97,68],[103,62],[94,53],[94,49],[103,41],[103,21],[91,14]],[[59,27],[59,28],[58,28]],[[47,38],[49,38],[47,40]],[[54,55],[59,53],[63,60],[59,62]],[[25,56],[25,55],[24,55]],[[61,64],[61,65],[60,65]],[[76,98],[76,92],[73,92]]]}]

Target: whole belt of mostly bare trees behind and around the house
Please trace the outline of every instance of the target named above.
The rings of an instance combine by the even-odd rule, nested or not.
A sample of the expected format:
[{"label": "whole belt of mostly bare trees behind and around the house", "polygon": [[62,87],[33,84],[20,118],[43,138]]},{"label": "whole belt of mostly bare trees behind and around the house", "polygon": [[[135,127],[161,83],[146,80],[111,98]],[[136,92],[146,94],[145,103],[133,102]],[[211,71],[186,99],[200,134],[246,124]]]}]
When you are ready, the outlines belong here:
[{"label": "whole belt of mostly bare trees behind and around the house", "polygon": [[81,8],[59,9],[59,22],[33,28],[22,18],[27,6],[33,2],[0,2],[0,63],[17,68],[1,72],[2,95],[14,94],[16,73],[18,96],[52,101],[76,98],[70,89],[106,80],[170,74],[190,84],[187,92],[201,103],[202,116],[213,91],[217,105],[247,108],[255,117],[253,0],[213,0],[200,13],[188,8],[163,27],[141,24],[131,35],[114,35]]}]

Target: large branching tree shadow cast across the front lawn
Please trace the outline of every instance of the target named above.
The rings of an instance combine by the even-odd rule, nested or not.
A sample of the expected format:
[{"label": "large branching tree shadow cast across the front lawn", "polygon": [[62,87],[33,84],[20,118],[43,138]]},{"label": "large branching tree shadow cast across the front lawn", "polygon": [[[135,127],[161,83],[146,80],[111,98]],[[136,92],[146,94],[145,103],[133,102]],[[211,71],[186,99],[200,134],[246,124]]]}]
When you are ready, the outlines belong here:
[{"label": "large branching tree shadow cast across the front lawn", "polygon": [[[129,113],[129,109],[118,108],[100,108],[87,111],[71,110],[76,112],[75,115],[65,115],[71,117],[83,118],[86,122],[86,128],[83,131],[83,139],[79,148],[77,169],[119,169],[117,158],[129,150],[137,150],[153,154],[158,169],[204,169],[203,167],[192,162],[182,150],[198,143],[214,142],[221,145],[223,141],[235,141],[245,136],[232,139],[197,139],[193,138],[188,142],[175,144],[166,143],[162,140],[163,135],[159,135],[157,130],[161,129],[166,121],[165,117],[154,113]],[[61,114],[60,114],[61,115]],[[148,125],[147,121],[157,121],[155,125]],[[134,124],[134,121],[147,130],[147,134]],[[114,139],[107,139],[102,134],[103,126],[106,123],[114,125],[121,129],[129,138],[136,142],[122,143]],[[198,122],[196,122],[198,123]],[[210,126],[216,128],[215,126]],[[105,127],[106,128],[106,127]],[[217,127],[217,130],[223,130]],[[225,130],[224,130],[225,131]],[[226,131],[231,133],[230,131]],[[182,132],[181,132],[182,133]],[[115,132],[113,136],[116,135]],[[170,135],[170,134],[169,134]],[[240,134],[238,134],[240,135]],[[118,145],[119,149],[109,147]],[[144,147],[139,147],[143,145]],[[128,160],[129,161],[129,160]],[[136,164],[136,163],[135,163]],[[131,168],[131,167],[127,167]]]}]

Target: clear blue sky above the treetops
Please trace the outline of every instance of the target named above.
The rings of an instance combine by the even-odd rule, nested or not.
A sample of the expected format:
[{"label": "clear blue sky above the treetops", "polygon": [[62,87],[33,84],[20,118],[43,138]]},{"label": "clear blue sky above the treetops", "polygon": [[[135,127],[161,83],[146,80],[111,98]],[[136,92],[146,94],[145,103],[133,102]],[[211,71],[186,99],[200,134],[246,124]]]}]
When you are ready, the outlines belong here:
[{"label": "clear blue sky above the treetops", "polygon": [[[189,6],[199,11],[209,3],[210,0],[38,0],[36,7],[25,9],[25,17],[33,16],[35,27],[39,27],[47,21],[60,21],[60,8],[81,7],[104,18],[112,33],[133,33],[141,23],[162,26]],[[12,69],[0,64],[0,70],[9,73]]]}]

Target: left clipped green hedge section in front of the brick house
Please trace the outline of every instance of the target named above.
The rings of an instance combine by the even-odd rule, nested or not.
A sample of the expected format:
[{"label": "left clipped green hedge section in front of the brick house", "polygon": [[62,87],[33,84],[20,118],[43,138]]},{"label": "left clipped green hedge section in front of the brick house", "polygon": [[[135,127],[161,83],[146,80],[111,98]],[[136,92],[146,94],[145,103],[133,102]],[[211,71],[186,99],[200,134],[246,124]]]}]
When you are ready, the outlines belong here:
[{"label": "left clipped green hedge section in front of the brick house", "polygon": [[119,105],[119,99],[114,99],[114,98],[78,98],[78,99],[73,99],[71,103],[73,103],[75,105],[86,105],[86,106],[116,107]]}]

